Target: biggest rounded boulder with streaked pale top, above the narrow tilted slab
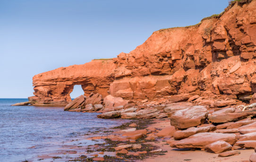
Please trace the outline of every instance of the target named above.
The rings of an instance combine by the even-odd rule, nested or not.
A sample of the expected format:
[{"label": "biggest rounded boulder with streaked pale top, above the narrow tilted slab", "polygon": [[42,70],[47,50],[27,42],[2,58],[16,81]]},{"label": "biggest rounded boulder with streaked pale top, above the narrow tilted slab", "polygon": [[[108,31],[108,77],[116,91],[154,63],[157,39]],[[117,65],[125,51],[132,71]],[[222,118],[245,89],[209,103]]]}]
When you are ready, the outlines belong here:
[{"label": "biggest rounded boulder with streaked pale top, above the narrow tilted slab", "polygon": [[205,122],[208,111],[205,106],[193,106],[170,114],[171,126],[179,129],[196,127]]}]

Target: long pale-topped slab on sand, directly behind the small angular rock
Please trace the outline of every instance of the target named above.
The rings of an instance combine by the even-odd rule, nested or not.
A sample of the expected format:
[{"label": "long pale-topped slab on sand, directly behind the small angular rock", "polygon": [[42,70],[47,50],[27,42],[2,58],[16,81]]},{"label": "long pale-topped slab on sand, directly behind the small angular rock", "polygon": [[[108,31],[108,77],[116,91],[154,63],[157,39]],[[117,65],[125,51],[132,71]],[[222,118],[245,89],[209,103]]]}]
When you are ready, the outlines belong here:
[{"label": "long pale-topped slab on sand, directly behind the small angular rock", "polygon": [[171,147],[176,148],[203,148],[215,141],[223,140],[230,145],[233,145],[237,141],[235,134],[224,134],[224,133],[198,133],[188,138],[181,139],[179,141],[171,141]]}]

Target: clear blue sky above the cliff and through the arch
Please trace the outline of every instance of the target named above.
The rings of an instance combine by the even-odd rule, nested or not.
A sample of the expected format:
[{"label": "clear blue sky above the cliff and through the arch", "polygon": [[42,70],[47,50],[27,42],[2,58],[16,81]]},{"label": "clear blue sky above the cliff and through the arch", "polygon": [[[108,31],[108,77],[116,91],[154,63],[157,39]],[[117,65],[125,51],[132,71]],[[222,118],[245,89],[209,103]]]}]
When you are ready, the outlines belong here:
[{"label": "clear blue sky above the cliff and through the arch", "polygon": [[0,98],[32,96],[35,74],[116,57],[156,30],[221,13],[228,1],[0,0]]}]

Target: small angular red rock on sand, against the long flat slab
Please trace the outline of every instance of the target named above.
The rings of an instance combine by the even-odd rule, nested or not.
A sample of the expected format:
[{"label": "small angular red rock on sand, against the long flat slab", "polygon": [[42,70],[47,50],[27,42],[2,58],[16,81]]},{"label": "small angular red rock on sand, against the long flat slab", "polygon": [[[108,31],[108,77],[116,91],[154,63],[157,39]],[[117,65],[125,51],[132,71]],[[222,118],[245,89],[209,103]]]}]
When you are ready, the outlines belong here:
[{"label": "small angular red rock on sand, against the long flat slab", "polygon": [[230,150],[231,148],[232,145],[222,140],[215,141],[212,144],[205,146],[205,150],[210,153],[222,153]]}]

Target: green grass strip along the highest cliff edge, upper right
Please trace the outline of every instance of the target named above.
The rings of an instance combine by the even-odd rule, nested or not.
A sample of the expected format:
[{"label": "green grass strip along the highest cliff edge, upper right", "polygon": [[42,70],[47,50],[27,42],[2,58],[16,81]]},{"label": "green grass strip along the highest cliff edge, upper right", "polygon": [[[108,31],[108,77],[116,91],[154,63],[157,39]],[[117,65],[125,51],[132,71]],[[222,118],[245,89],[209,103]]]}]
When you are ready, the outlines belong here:
[{"label": "green grass strip along the highest cliff edge, upper right", "polygon": [[208,19],[212,19],[212,18],[220,18],[227,10],[229,10],[232,6],[234,6],[234,4],[236,2],[238,2],[239,5],[243,5],[245,3],[249,4],[252,0],[230,0],[229,1],[229,6],[220,14],[214,14],[210,17],[205,17],[203,18],[198,24],[196,25],[192,25],[192,26],[182,26],[182,27],[170,27],[170,28],[165,28],[165,29],[160,29],[158,31],[162,32],[166,29],[175,29],[175,28],[189,28],[189,27],[195,27],[195,26],[200,26],[200,24],[204,21],[204,20],[208,20]]}]

